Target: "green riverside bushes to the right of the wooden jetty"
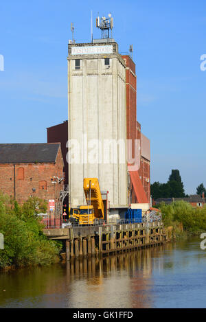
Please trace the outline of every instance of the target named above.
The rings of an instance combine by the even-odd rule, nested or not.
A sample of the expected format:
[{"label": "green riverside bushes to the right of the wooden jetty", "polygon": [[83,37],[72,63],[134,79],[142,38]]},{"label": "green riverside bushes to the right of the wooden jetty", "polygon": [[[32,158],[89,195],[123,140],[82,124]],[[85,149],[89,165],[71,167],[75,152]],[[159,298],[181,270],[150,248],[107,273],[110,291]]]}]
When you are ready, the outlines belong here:
[{"label": "green riverside bushes to the right of the wooden jetty", "polygon": [[203,208],[194,208],[185,201],[175,201],[170,205],[159,205],[163,224],[173,227],[176,238],[190,235],[200,235],[206,232],[206,205]]}]

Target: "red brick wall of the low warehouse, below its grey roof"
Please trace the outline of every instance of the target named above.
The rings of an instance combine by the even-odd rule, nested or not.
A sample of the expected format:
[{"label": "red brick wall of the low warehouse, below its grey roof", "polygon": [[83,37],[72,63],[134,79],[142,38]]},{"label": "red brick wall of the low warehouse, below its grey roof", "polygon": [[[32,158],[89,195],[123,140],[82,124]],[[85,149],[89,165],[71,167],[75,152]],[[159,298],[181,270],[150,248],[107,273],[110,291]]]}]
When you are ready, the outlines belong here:
[{"label": "red brick wall of the low warehouse, below its grey roof", "polygon": [[[63,176],[61,150],[58,150],[56,163],[19,163],[15,165],[16,200],[23,203],[30,196],[58,201],[63,183],[52,183],[52,177]],[[35,188],[34,193],[32,189]],[[0,191],[14,198],[14,165],[0,164]]]}]

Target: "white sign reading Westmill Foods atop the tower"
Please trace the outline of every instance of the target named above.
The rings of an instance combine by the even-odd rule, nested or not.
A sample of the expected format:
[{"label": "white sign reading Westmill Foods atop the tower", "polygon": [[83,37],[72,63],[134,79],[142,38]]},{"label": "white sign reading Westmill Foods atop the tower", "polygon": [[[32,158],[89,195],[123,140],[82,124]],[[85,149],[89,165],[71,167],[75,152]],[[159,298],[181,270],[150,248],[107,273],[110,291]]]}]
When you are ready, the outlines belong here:
[{"label": "white sign reading Westmill Foods atop the tower", "polygon": [[112,54],[113,46],[71,47],[71,55]]}]

